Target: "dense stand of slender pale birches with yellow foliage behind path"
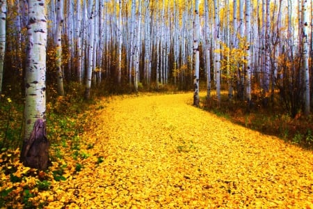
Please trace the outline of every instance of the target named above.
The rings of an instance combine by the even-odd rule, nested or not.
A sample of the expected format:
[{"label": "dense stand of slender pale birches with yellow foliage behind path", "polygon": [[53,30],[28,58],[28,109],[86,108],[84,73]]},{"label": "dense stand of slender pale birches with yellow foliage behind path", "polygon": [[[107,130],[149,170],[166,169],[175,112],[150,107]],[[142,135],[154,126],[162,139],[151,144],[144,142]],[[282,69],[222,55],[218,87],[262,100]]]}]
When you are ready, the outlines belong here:
[{"label": "dense stand of slender pale birches with yellow foliage behind path", "polygon": [[[228,90],[229,100],[250,103],[259,97],[265,107],[280,102],[292,116],[300,109],[310,112],[312,1],[48,3],[48,85],[59,95],[61,84],[66,89],[70,82],[85,84],[86,99],[90,89],[100,86],[115,92],[166,85],[191,90],[205,82],[207,98],[214,99],[216,90],[218,103],[221,91]],[[3,66],[13,69],[5,70],[4,77],[18,75],[21,83],[23,64],[17,63],[25,63],[20,55],[26,37],[25,5],[8,1],[12,15],[7,17],[6,36],[18,36],[6,41],[10,56],[0,56]],[[280,98],[274,97],[277,92]]]}]

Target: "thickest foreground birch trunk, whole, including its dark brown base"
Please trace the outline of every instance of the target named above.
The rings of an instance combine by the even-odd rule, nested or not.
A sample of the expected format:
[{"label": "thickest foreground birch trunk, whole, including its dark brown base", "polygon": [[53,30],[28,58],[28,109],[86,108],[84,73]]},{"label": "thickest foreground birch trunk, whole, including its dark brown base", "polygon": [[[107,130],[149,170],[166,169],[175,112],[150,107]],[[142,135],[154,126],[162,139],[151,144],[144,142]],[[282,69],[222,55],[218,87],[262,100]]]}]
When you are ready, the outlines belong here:
[{"label": "thickest foreground birch trunk, whole, including its dark brown base", "polygon": [[49,141],[46,137],[46,46],[45,0],[29,0],[24,143],[21,160],[28,167],[47,169]]}]

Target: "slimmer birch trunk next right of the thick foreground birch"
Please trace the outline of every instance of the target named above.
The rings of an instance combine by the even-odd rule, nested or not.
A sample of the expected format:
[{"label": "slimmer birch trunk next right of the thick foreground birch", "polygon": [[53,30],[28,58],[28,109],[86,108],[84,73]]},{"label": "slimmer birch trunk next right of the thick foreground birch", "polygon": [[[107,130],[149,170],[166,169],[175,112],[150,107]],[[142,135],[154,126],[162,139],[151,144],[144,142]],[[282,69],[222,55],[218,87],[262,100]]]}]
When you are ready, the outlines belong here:
[{"label": "slimmer birch trunk next right of the thick foreground birch", "polygon": [[58,95],[64,95],[62,70],[63,0],[56,1],[56,82]]}]

